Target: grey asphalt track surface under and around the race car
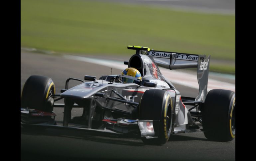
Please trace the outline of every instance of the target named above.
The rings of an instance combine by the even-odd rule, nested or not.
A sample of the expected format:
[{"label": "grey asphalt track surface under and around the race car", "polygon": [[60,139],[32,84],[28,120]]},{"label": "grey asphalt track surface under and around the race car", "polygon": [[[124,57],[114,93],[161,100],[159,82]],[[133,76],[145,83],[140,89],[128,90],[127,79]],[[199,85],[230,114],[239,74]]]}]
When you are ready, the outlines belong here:
[{"label": "grey asphalt track surface under and around the race car", "polygon": [[[104,57],[104,56],[102,56]],[[120,58],[113,58],[120,59]],[[121,70],[113,68],[112,74]],[[64,88],[69,77],[110,74],[110,68],[92,63],[65,59],[61,56],[21,50],[21,91],[30,75],[53,79],[56,93]],[[73,83],[75,85],[75,83]],[[195,97],[197,90],[174,84],[183,95]],[[63,108],[54,109],[56,120],[62,121]],[[72,110],[80,116],[82,109]],[[105,136],[87,131],[24,129],[21,126],[21,160],[235,160],[235,140],[209,141],[203,132],[172,135],[164,145],[144,145],[140,138]]]}]

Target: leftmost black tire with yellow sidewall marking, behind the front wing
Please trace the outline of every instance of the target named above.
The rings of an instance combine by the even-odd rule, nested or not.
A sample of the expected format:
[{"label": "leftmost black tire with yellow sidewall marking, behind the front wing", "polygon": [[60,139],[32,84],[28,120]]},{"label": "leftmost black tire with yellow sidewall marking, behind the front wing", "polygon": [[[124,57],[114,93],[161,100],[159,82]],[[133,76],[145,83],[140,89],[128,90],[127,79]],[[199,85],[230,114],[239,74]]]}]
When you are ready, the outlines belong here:
[{"label": "leftmost black tire with yellow sidewall marking, behind the front wing", "polygon": [[55,85],[51,78],[32,75],[23,87],[21,107],[51,112],[54,104],[52,94],[55,94]]}]

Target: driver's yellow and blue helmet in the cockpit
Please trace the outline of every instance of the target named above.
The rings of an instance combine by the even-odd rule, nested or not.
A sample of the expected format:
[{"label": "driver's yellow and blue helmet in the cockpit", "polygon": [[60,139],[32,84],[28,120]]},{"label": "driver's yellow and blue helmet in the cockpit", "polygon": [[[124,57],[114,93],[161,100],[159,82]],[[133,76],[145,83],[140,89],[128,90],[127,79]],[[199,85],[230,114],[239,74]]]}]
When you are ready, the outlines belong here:
[{"label": "driver's yellow and blue helmet in the cockpit", "polygon": [[140,83],[141,82],[141,74],[135,68],[126,68],[120,75],[121,81],[123,83]]}]

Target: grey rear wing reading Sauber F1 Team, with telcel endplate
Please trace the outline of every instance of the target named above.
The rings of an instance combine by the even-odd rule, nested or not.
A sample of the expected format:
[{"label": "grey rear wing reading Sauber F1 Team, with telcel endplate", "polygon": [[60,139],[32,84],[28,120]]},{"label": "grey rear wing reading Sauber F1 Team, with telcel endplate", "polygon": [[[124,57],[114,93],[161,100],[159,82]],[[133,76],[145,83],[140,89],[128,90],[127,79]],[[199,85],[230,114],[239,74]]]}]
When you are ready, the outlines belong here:
[{"label": "grey rear wing reading Sauber F1 Team, with telcel endplate", "polygon": [[158,66],[170,70],[197,68],[199,93],[195,101],[204,102],[207,94],[210,55],[206,58],[206,55],[157,51],[143,46],[128,46],[127,48],[136,50],[136,54],[152,56]]}]

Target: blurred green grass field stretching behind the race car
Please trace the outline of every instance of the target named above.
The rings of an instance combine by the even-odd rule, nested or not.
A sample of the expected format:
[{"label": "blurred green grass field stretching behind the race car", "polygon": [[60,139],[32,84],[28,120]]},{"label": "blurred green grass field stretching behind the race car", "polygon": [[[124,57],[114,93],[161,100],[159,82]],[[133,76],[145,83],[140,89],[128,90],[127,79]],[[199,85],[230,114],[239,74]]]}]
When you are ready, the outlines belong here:
[{"label": "blurred green grass field stretching behind the race car", "polygon": [[234,61],[235,16],[103,1],[21,1],[21,46],[69,53],[133,53],[127,45]]}]

